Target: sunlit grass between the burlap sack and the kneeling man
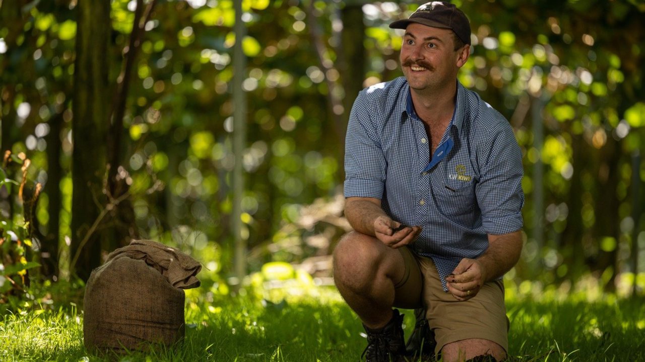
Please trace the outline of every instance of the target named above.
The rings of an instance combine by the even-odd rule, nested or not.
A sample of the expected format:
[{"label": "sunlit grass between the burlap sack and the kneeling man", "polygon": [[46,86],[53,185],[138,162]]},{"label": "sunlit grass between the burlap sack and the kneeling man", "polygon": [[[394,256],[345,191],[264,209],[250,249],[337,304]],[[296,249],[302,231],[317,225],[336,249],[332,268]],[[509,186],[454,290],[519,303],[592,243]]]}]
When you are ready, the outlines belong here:
[{"label": "sunlit grass between the burlap sack and the kneeling man", "polygon": [[344,361],[348,350],[362,351],[361,322],[330,288],[237,301],[228,308],[195,303],[186,314],[191,334],[221,346],[208,351],[213,361]]}]

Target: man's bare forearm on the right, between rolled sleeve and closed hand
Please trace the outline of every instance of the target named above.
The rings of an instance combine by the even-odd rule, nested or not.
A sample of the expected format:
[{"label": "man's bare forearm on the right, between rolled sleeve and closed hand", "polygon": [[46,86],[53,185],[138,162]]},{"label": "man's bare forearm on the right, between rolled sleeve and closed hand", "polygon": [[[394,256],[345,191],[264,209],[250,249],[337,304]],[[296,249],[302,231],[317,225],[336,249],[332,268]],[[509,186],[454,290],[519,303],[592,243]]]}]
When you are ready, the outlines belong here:
[{"label": "man's bare forearm on the right, between rolled sleeve and closed hand", "polygon": [[510,271],[522,252],[522,232],[488,235],[488,249],[477,261],[482,264],[485,281],[491,281]]}]

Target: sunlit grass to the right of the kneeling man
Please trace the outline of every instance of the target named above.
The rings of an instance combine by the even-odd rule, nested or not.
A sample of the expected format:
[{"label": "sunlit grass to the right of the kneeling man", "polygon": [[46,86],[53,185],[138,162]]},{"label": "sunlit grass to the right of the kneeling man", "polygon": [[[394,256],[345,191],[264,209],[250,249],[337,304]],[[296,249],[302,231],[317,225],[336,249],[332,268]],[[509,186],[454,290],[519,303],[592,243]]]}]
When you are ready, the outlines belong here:
[{"label": "sunlit grass to the right of the kneeling man", "polygon": [[[508,283],[507,283],[508,285]],[[522,361],[645,361],[642,297],[619,298],[599,283],[507,289],[510,353]]]}]

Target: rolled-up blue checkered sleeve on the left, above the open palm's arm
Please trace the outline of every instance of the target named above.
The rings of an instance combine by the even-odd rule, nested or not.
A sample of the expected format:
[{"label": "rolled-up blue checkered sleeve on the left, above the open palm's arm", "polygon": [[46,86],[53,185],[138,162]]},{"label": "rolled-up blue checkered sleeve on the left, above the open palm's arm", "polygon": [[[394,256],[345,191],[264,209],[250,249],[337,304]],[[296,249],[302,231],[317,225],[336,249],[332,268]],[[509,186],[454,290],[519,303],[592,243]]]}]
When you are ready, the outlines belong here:
[{"label": "rolled-up blue checkered sleeve on the left, above the open palm's arm", "polygon": [[382,198],[386,160],[362,91],[354,102],[345,138],[345,197]]}]

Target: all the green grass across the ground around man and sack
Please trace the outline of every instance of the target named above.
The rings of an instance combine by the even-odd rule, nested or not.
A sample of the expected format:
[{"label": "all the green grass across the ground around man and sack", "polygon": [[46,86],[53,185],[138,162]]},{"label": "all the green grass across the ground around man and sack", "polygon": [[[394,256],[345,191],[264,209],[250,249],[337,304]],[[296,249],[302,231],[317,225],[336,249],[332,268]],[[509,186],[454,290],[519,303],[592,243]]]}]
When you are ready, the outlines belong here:
[{"label": "all the green grass across the ground around man and sack", "polygon": [[[275,291],[274,291],[275,292]],[[333,289],[283,301],[188,291],[186,338],[148,354],[95,357],[83,347],[83,315],[75,307],[7,314],[0,323],[3,361],[359,361],[359,319]],[[517,361],[645,361],[643,300],[510,290],[510,355]],[[275,294],[265,295],[280,300]],[[213,302],[204,300],[214,299]],[[406,335],[412,312],[406,312]]]}]

